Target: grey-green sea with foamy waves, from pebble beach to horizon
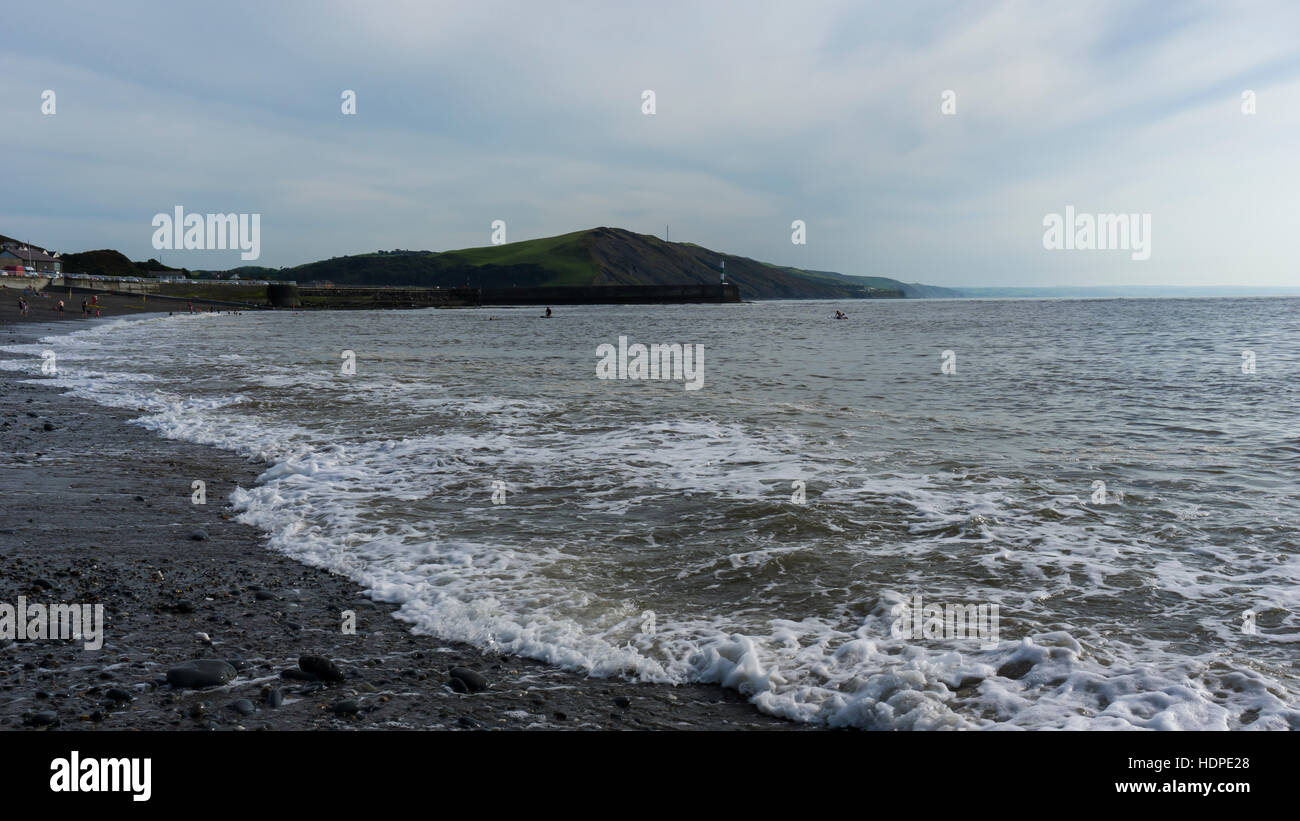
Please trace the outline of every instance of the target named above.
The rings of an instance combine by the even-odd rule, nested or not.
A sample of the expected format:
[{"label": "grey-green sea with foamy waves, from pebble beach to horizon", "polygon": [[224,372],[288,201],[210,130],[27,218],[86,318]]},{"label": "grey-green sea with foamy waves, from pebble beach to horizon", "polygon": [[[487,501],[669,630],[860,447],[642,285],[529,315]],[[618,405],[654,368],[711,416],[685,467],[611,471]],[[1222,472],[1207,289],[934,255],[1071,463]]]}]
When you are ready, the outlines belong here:
[{"label": "grey-green sea with foamy waves, from pebble beach to horizon", "polygon": [[[0,368],[257,460],[240,518],[416,633],[828,726],[1300,729],[1300,299],[538,313],[114,320]],[[598,378],[619,336],[702,386]]]}]

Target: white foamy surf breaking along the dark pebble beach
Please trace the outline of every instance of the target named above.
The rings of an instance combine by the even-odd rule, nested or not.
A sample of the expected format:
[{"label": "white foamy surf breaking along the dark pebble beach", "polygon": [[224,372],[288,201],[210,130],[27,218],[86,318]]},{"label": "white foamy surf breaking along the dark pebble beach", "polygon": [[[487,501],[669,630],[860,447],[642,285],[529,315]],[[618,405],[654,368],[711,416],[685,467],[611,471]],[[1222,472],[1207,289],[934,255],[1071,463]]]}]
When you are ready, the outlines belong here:
[{"label": "white foamy surf breaking along the dark pebble beach", "polygon": [[[187,320],[46,336],[3,348],[27,356],[0,368],[260,460],[256,485],[231,498],[239,520],[398,604],[415,633],[598,677],[718,683],[827,726],[1300,727],[1277,676],[1212,647],[1169,651],[1160,613],[1124,609],[1136,591],[1169,618],[1204,621],[1191,603],[1232,607],[1256,565],[1257,604],[1294,604],[1295,560],[1279,575],[1249,549],[1231,569],[1214,549],[1199,564],[1174,555],[1160,530],[1134,537],[1153,516],[1140,496],[1110,513],[1024,475],[883,472],[793,426],[707,413],[628,418],[590,398],[464,394],[387,373],[341,386],[295,370],[300,351],[231,355],[243,331],[207,323],[196,338]],[[46,349],[56,377],[39,375]],[[195,373],[212,385],[196,388]],[[356,405],[373,435],[304,414],[307,398]],[[391,435],[376,407],[438,425]],[[1214,518],[1173,511],[1179,527]],[[996,604],[1000,639],[897,637],[918,594]],[[1089,607],[1070,605],[1080,599]],[[1202,630],[1218,647],[1242,640],[1222,622]]]}]

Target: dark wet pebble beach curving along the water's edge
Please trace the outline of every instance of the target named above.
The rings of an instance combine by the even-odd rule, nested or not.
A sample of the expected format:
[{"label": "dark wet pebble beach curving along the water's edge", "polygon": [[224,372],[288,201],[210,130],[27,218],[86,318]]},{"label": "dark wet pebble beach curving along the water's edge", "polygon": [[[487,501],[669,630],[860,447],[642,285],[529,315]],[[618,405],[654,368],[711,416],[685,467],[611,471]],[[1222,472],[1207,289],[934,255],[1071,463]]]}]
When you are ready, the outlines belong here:
[{"label": "dark wet pebble beach curving along the water's edge", "polygon": [[[17,317],[5,300],[0,344],[61,331],[48,325],[78,312]],[[0,729],[819,729],[715,685],[588,678],[416,635],[395,605],[234,521],[229,495],[261,465],[29,378],[0,372],[0,603],[103,604],[103,647],[0,638]],[[194,478],[207,482],[205,505],[191,504]],[[341,630],[343,611],[355,634]],[[295,672],[300,656],[333,660],[343,679],[311,681]],[[238,676],[202,690],[166,683],[170,668],[200,659]],[[463,692],[478,683],[452,668],[486,688]]]}]

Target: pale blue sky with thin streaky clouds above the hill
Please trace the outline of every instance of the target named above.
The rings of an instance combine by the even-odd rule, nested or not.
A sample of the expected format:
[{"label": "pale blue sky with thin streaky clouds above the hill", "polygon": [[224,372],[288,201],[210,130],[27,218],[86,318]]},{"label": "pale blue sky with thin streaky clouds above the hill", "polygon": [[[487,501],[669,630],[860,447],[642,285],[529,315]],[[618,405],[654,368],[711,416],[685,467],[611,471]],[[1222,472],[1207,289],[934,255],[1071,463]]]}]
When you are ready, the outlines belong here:
[{"label": "pale blue sky with thin streaky clouds above the hill", "polygon": [[[56,251],[280,268],[486,246],[500,220],[941,286],[1300,284],[1295,3],[42,0],[5,22],[0,234]],[[155,249],[178,205],[260,214],[260,259]],[[1066,207],[1149,216],[1149,256],[1045,248]]]}]

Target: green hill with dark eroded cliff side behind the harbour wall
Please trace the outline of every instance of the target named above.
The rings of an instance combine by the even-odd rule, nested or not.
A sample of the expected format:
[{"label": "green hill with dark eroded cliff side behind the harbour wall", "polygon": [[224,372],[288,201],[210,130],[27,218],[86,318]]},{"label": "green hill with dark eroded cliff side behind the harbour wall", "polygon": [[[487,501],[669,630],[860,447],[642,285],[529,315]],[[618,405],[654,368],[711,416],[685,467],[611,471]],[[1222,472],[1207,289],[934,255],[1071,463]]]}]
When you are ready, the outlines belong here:
[{"label": "green hill with dark eroded cliff side behind the harbour wall", "polygon": [[[744,299],[898,299],[950,295],[885,277],[809,272],[668,243],[623,229],[598,227],[559,236],[459,251],[380,251],[333,257],[274,272],[274,278],[335,284],[455,287],[608,286],[727,281]],[[272,274],[266,274],[270,278]],[[922,290],[931,291],[923,292]],[[942,292],[942,294],[940,294]]]}]

